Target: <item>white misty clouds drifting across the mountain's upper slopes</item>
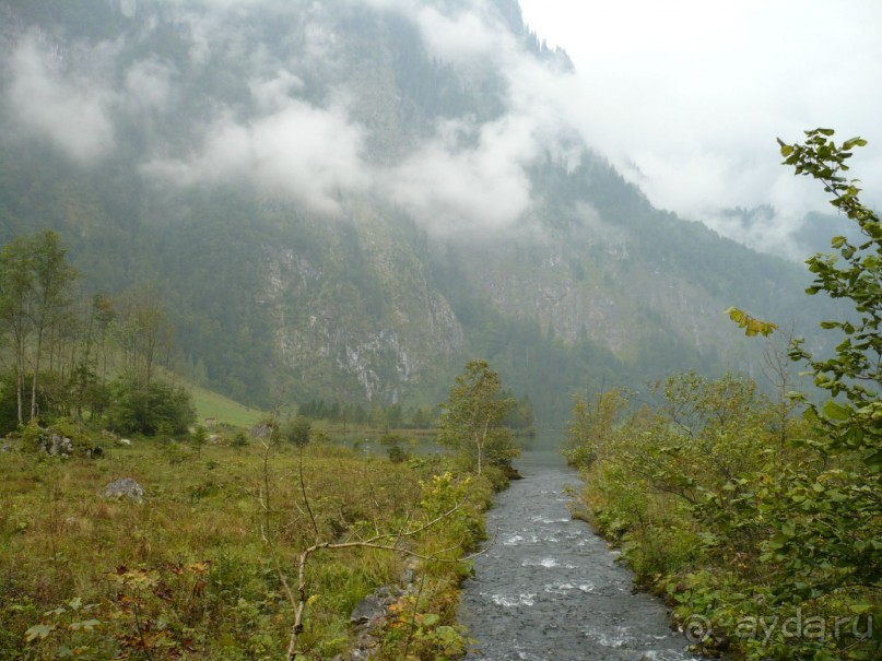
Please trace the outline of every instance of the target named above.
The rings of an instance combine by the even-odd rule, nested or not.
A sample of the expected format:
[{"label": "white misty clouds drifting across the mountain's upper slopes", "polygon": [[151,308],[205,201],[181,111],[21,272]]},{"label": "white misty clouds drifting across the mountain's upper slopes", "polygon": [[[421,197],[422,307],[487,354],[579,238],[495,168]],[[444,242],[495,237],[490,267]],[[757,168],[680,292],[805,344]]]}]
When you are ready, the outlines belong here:
[{"label": "white misty clouds drifting across the mountain's upper slopes", "polygon": [[[146,146],[142,174],[163,184],[250,184],[324,212],[334,211],[338,193],[371,191],[438,231],[515,223],[532,201],[526,168],[546,152],[577,154],[565,57],[554,67],[530,52],[492,3],[141,4],[164,22],[77,40],[70,51],[59,51],[40,29],[11,44],[7,101],[19,129],[82,163],[110,156],[121,134],[133,130]],[[481,116],[427,117],[421,134],[395,153],[378,145],[384,128],[366,111],[352,72],[341,74],[348,54],[336,34],[341,15],[357,21],[365,8],[412,25],[426,57],[463,81],[492,81],[497,107]],[[248,27],[258,12],[285,24],[289,35],[268,45],[267,35]],[[184,59],[138,52],[169,25],[188,50]],[[204,99],[199,117],[188,117],[196,121],[183,143],[179,133],[163,131],[186,103],[185,87],[227,58],[235,59],[228,72],[239,87],[234,97]],[[332,84],[316,88],[308,80],[316,72],[332,75]]]}]

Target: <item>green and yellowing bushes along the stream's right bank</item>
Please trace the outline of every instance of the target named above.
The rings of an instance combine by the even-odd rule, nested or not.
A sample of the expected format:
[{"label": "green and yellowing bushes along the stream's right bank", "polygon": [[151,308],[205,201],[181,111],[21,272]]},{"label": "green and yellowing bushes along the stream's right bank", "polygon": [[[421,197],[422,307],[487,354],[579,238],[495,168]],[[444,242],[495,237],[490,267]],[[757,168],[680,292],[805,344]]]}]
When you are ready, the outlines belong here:
[{"label": "green and yellowing bushes along the stream's right bank", "polygon": [[[588,517],[622,547],[640,583],[673,605],[695,648],[746,659],[878,659],[882,651],[882,225],[863,206],[833,131],[785,144],[785,163],[820,179],[860,243],[808,261],[826,293],[854,306],[827,321],[840,338],[819,359],[799,340],[828,399],[790,392],[787,361],[771,352],[777,399],[744,377],[694,373],[656,386],[661,403],[628,406],[623,390],[578,399],[566,456],[586,477]],[[749,335],[775,328],[741,310]],[[790,413],[801,406],[803,417]]]}]

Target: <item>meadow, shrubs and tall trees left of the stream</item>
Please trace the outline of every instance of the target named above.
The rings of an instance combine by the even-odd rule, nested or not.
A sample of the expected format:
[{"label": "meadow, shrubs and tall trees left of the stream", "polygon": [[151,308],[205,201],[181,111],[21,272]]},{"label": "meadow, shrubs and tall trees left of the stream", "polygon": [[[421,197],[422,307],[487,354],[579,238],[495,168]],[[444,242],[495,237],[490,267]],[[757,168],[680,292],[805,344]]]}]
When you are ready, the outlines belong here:
[{"label": "meadow, shrubs and tall trees left of the stream", "polygon": [[[365,457],[304,416],[209,435],[163,367],[172,333],[149,291],[78,306],[51,232],[7,245],[0,269],[15,358],[0,382],[0,657],[329,659],[379,586],[393,602],[375,658],[463,653],[458,586],[514,448],[474,474],[468,444],[413,457],[387,433],[389,459]],[[490,386],[445,406],[510,441],[496,427],[516,402],[475,364]],[[450,437],[457,424],[442,421]],[[142,488],[102,494],[120,479]]]}]

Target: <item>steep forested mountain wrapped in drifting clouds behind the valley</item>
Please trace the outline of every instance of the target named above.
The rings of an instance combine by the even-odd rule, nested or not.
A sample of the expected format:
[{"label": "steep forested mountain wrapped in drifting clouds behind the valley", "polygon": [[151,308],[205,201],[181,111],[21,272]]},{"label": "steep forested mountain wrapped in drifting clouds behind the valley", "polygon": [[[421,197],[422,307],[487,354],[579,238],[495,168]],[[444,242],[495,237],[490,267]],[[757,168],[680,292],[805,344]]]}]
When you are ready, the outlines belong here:
[{"label": "steep forested mountain wrapped in drifting clouds behind the valley", "polygon": [[[567,126],[514,0],[0,1],[0,240],[153,283],[176,367],[248,403],[418,405],[491,361],[571,393],[754,369],[804,268],[654,209]],[[555,105],[557,104],[557,105]]]}]

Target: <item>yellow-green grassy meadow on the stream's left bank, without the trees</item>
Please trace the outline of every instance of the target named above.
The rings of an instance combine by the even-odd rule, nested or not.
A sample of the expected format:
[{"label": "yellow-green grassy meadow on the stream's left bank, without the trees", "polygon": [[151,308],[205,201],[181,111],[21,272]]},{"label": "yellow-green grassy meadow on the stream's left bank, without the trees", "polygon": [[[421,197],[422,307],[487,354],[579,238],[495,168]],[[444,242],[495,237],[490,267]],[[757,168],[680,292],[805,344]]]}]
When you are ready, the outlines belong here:
[{"label": "yellow-green grassy meadow on the stream's left bank, without the trees", "polygon": [[[298,462],[296,450],[275,447],[264,474],[258,444],[208,446],[197,456],[187,444],[150,439],[98,460],[0,453],[0,658],[284,658],[292,609],[273,554],[294,575],[297,552],[317,538],[401,529],[449,496],[432,492],[437,483],[424,463],[309,447],[302,488]],[[144,487],[143,503],[102,497],[120,477]],[[490,486],[468,488],[474,505],[409,540],[414,550],[456,558],[478,543]],[[403,567],[399,554],[378,550],[316,553],[301,636],[307,657],[343,651],[352,607]],[[414,607],[451,624],[464,571],[422,563],[418,573],[438,606]]]}]

